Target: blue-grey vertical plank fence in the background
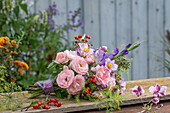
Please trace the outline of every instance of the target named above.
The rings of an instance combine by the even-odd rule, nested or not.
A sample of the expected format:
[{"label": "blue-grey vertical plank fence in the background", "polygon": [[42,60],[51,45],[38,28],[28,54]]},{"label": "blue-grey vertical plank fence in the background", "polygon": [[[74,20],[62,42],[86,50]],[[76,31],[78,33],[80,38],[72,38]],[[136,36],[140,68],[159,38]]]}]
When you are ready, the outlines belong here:
[{"label": "blue-grey vertical plank fence in the background", "polygon": [[70,41],[78,34],[92,36],[94,47],[114,49],[121,44],[146,40],[129,54],[133,58],[130,78],[147,79],[170,76],[158,57],[168,58],[160,42],[170,29],[170,0],[30,0],[32,12],[47,9],[55,2],[60,16],[58,24],[67,22],[70,10],[82,9],[84,29],[65,34]]}]

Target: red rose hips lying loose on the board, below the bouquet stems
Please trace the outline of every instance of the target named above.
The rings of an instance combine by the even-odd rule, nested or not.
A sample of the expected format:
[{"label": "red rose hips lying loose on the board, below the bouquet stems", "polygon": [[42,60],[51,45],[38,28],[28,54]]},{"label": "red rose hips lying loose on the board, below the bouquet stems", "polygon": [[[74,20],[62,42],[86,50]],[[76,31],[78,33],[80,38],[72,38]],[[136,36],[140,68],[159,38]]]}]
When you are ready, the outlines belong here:
[{"label": "red rose hips lying loose on the board, below the bouquet stems", "polygon": [[49,105],[53,103],[54,106],[60,107],[62,102],[58,102],[56,99],[46,99],[44,102],[38,102],[38,105],[32,106],[34,109],[43,108],[43,109],[50,109]]}]

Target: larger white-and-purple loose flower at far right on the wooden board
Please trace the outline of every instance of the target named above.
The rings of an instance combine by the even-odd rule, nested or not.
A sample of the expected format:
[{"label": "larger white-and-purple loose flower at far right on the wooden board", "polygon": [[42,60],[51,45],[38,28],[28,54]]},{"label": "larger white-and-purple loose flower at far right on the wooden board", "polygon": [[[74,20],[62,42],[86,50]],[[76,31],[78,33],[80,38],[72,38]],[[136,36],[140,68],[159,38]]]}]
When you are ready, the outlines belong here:
[{"label": "larger white-and-purple loose flower at far right on the wooden board", "polygon": [[156,86],[151,86],[149,88],[149,91],[153,94],[154,97],[164,96],[165,92],[167,90],[166,86],[160,87],[159,84],[156,84]]}]

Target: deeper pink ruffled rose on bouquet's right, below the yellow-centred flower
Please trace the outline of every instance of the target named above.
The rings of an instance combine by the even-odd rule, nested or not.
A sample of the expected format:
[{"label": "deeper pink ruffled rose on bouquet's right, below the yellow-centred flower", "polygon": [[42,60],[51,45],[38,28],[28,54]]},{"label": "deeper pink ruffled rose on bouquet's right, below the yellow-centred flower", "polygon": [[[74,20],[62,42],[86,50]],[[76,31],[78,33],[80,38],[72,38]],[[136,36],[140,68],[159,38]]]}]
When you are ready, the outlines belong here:
[{"label": "deeper pink ruffled rose on bouquet's right, below the yellow-centred flower", "polygon": [[110,79],[110,72],[104,66],[101,66],[97,69],[96,72],[96,83],[100,84],[107,84]]}]

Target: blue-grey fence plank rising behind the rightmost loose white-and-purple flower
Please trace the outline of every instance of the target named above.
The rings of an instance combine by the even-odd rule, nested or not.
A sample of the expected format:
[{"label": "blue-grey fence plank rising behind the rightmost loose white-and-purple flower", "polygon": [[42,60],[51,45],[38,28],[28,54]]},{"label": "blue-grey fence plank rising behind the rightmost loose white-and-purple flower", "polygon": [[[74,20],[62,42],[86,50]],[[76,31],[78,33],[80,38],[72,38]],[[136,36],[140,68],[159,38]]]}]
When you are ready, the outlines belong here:
[{"label": "blue-grey fence plank rising behind the rightmost loose white-and-purple flower", "polygon": [[163,77],[163,65],[158,57],[164,57],[163,44],[160,42],[163,36],[163,0],[149,0],[148,12],[148,57],[149,57],[149,78]]}]

